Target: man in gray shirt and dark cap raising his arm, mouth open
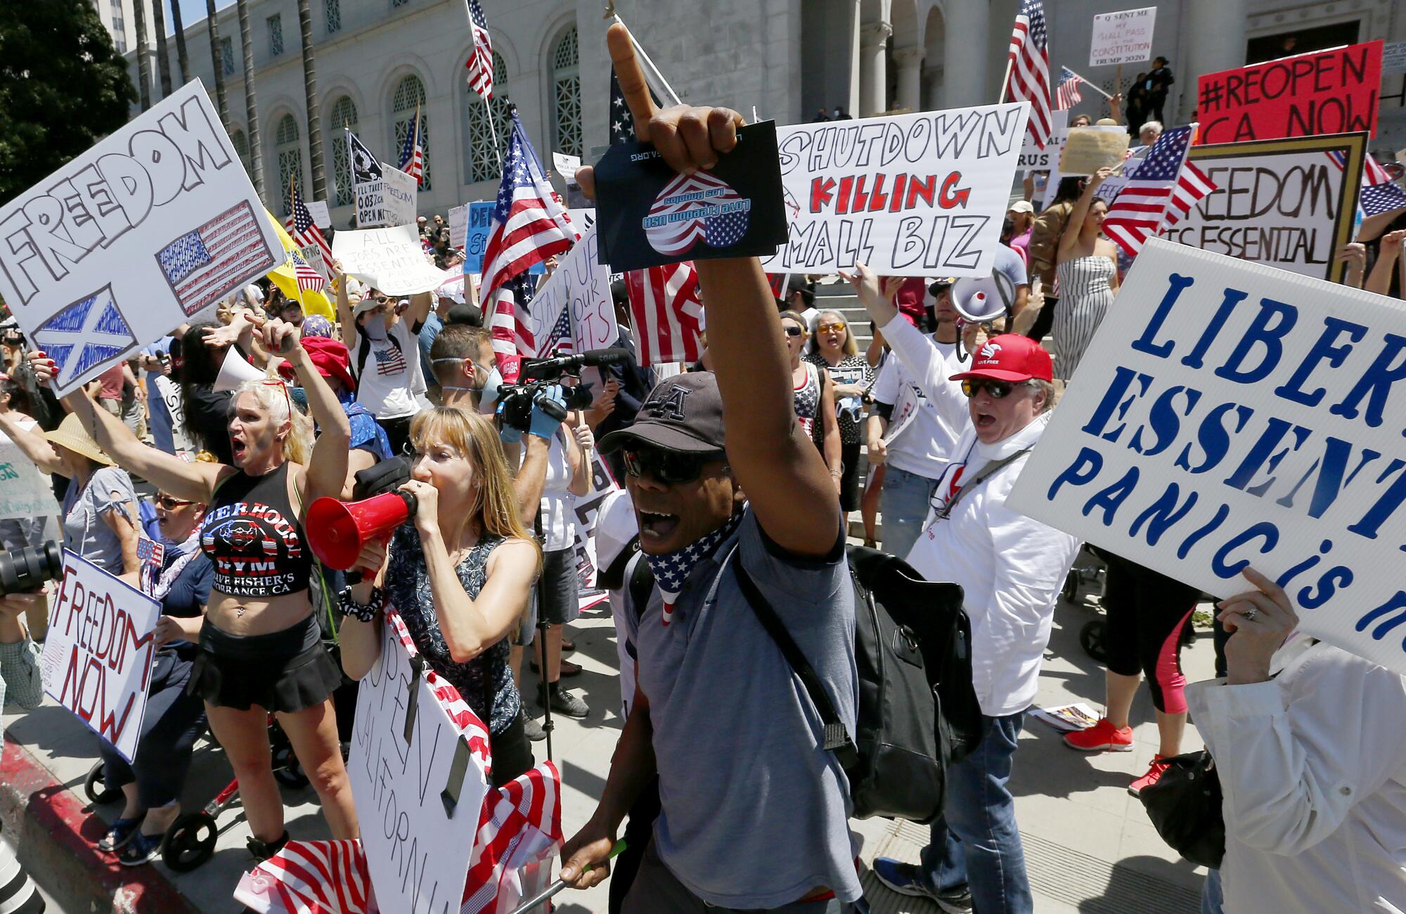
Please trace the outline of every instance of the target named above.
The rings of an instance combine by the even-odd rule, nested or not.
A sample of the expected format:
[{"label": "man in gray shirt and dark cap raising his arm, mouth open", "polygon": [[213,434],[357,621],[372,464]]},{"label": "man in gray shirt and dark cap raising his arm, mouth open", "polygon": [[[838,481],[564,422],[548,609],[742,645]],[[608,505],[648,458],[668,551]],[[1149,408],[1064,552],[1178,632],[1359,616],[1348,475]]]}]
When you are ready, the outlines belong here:
[{"label": "man in gray shirt and dark cap raising his arm, mouth open", "polygon": [[[657,111],[628,31],[612,25],[607,39],[638,136],[672,169],[711,167],[737,145],[740,114]],[[576,177],[593,191],[589,166]],[[796,422],[790,353],[761,263],[696,267],[717,374],[664,381],[634,425],[602,440],[624,450],[658,588],[640,620],[636,697],[600,804],[562,848],[561,877],[583,889],[609,875],[620,820],[658,773],[662,809],[627,914],[820,913],[862,894],[848,780],[737,575],[769,598],[852,733],[855,607],[839,502]]]}]

